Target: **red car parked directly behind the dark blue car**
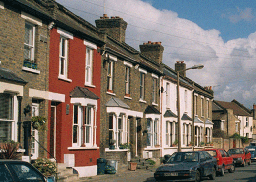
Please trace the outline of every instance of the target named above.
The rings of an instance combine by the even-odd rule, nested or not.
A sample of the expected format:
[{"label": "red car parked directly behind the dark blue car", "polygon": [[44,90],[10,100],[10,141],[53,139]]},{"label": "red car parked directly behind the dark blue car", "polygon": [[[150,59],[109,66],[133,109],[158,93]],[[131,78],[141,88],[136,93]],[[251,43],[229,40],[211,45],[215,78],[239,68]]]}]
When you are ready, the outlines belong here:
[{"label": "red car parked directly behind the dark blue car", "polygon": [[224,149],[201,149],[200,151],[207,151],[217,160],[218,173],[220,176],[224,176],[225,170],[229,173],[235,172],[235,163],[231,155],[229,155]]}]

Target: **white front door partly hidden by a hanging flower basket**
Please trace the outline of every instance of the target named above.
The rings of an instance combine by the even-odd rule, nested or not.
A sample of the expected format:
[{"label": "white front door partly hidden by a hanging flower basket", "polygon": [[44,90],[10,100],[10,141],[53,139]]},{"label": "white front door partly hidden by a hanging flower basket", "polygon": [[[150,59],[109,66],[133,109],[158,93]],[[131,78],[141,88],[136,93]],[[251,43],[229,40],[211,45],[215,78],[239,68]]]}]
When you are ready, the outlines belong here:
[{"label": "white front door partly hidden by a hanging flower basket", "polygon": [[[32,117],[39,115],[39,104],[32,103]],[[31,127],[31,135],[38,141],[38,131]],[[31,159],[37,159],[38,157],[38,143],[31,137]]]}]

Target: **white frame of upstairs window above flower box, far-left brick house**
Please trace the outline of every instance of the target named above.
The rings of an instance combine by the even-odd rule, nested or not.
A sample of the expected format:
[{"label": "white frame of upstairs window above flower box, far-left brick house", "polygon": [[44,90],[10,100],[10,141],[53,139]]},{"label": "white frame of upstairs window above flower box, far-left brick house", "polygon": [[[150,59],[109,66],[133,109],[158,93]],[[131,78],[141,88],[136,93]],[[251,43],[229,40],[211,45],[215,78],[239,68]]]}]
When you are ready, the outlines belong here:
[{"label": "white frame of upstairs window above flower box, far-left brick house", "polygon": [[[27,44],[24,40],[24,59],[30,59],[31,61],[34,60],[34,49],[35,49],[35,25],[25,21],[25,27],[30,26],[30,32],[29,32],[29,43]],[[28,49],[25,49],[25,47],[28,47]],[[28,57],[25,57],[25,50],[28,50]]]}]

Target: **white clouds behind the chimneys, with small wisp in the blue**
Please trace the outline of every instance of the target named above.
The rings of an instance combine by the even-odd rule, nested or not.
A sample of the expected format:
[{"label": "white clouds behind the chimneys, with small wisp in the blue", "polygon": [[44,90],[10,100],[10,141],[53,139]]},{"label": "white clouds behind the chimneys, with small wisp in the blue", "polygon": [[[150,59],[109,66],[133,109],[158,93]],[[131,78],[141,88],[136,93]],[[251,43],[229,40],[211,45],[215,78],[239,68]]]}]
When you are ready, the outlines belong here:
[{"label": "white clouds behind the chimneys, with small wisp in the blue", "polygon": [[[126,42],[139,50],[147,41],[161,41],[164,46],[163,62],[174,68],[176,61],[185,61],[187,67],[203,64],[201,70],[187,71],[186,75],[201,86],[215,86],[216,100],[238,100],[247,107],[256,101],[254,84],[256,68],[256,32],[248,38],[224,43],[218,30],[203,30],[197,24],[178,17],[176,12],[158,10],[140,0],[56,0],[75,14],[94,24],[103,12],[120,16],[127,23]],[[84,11],[84,12],[82,12]],[[87,13],[85,13],[87,12]],[[88,14],[90,13],[90,14]],[[239,9],[223,16],[237,21],[252,21],[252,9]],[[250,81],[251,80],[251,81]]]}]

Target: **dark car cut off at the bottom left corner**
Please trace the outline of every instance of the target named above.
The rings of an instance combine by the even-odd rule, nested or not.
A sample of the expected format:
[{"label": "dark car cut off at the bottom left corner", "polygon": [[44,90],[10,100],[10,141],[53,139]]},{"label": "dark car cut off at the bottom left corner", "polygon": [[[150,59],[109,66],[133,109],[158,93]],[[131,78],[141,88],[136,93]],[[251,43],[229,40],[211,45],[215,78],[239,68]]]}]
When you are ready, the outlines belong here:
[{"label": "dark car cut off at the bottom left corner", "polygon": [[[50,177],[52,178],[52,177]],[[50,182],[40,171],[28,162],[0,160],[0,182]]]}]

